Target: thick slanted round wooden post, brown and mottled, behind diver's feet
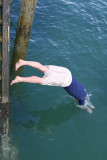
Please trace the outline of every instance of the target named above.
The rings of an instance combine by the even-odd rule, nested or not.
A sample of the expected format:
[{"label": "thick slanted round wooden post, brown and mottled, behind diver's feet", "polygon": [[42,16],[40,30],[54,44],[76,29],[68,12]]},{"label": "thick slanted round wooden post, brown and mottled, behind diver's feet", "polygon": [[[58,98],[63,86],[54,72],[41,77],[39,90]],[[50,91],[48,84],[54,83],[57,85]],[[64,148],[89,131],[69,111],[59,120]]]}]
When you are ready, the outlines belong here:
[{"label": "thick slanted round wooden post, brown and mottled, behind diver's feet", "polygon": [[20,58],[26,58],[36,1],[22,0],[12,57],[12,67]]}]

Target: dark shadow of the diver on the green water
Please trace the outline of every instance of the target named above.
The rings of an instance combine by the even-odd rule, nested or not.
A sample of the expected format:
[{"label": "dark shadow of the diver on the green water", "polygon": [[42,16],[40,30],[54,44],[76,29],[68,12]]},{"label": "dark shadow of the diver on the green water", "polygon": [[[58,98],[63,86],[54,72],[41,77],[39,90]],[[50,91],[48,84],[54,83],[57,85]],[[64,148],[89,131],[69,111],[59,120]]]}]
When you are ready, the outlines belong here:
[{"label": "dark shadow of the diver on the green water", "polygon": [[36,131],[47,133],[50,127],[59,126],[77,113],[79,113],[79,109],[75,107],[73,102],[66,105],[58,104],[57,108],[30,112],[33,120],[31,119],[22,125],[24,128],[35,128]]}]

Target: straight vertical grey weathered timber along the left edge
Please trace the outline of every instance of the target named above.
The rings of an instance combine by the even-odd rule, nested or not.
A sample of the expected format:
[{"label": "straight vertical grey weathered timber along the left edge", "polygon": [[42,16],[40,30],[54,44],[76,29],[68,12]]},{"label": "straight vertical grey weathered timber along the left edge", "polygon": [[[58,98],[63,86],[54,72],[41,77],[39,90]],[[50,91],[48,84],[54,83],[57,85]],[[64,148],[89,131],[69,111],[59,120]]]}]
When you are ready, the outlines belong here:
[{"label": "straight vertical grey weathered timber along the left edge", "polygon": [[10,2],[2,2],[2,103],[9,101],[9,19]]}]

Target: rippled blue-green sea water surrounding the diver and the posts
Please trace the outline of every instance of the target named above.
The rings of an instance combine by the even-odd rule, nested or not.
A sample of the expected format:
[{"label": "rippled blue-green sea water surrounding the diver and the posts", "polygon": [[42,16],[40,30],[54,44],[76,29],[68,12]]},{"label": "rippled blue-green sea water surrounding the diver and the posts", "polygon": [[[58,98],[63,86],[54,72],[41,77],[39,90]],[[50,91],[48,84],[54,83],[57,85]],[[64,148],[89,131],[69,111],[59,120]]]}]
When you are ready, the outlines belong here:
[{"label": "rippled blue-green sea water surrounding the diver and the posts", "polygon": [[[21,1],[10,19],[12,57]],[[18,160],[107,159],[107,1],[38,0],[26,60],[59,65],[84,83],[95,106],[79,109],[61,87],[10,86],[10,137]],[[23,76],[43,76],[25,66]],[[10,80],[14,77],[10,77]]]}]

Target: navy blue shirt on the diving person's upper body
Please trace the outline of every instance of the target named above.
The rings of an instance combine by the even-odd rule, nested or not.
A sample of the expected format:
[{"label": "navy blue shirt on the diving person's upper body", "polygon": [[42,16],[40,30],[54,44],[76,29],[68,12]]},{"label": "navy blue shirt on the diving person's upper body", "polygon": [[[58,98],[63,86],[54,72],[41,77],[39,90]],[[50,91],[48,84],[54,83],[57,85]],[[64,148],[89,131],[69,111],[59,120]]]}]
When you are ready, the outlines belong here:
[{"label": "navy blue shirt on the diving person's upper body", "polygon": [[86,88],[81,82],[79,82],[72,76],[71,84],[67,87],[64,87],[64,89],[72,97],[78,100],[79,105],[84,105],[87,94],[86,94]]}]

